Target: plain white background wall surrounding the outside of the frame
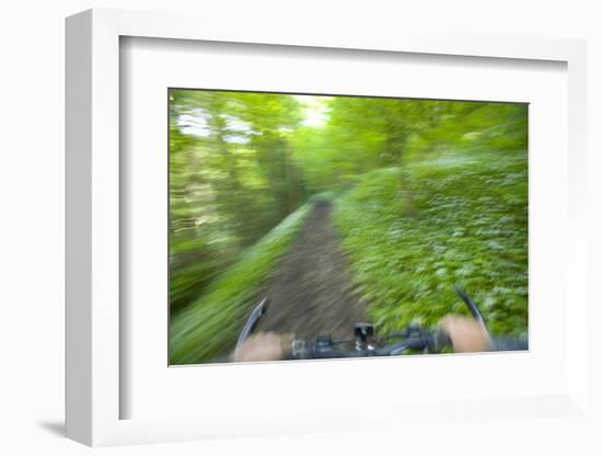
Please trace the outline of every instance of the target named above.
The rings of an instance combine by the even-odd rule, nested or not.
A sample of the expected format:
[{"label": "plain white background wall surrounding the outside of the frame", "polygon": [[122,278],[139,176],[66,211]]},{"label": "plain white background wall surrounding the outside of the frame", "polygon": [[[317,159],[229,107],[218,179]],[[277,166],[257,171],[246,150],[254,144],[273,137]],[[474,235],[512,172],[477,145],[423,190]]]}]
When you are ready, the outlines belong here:
[{"label": "plain white background wall surrounding the outside of the frame", "polygon": [[[425,26],[482,33],[587,38],[589,42],[590,195],[602,187],[602,13],[598,1],[397,0],[397,1],[184,1],[21,0],[0,9],[0,453],[82,454],[90,449],[61,437],[63,420],[63,18],[88,8],[195,11],[228,18],[268,14],[308,29],[355,23],[373,27]],[[598,7],[598,8],[597,8]],[[202,26],[202,24],[199,24]],[[591,232],[602,231],[600,204],[591,198]],[[592,240],[592,277],[600,275],[601,249]],[[595,267],[595,270],[593,269]],[[601,294],[594,287],[597,301]],[[593,323],[600,311],[589,315]],[[595,329],[595,326],[592,326]],[[600,347],[591,331],[591,350]],[[594,354],[595,356],[595,354]],[[599,360],[602,358],[598,352]],[[593,360],[593,356],[592,356]],[[600,364],[600,363],[598,363]],[[591,364],[594,385],[600,366]],[[592,403],[600,407],[598,388]],[[481,430],[479,423],[475,428]],[[511,434],[470,430],[432,435],[381,434],[255,438],[102,449],[125,454],[291,454],[324,455],[393,452],[429,454],[601,454],[593,429],[552,421],[521,423]],[[602,425],[600,426],[602,429]],[[424,435],[422,435],[424,434]],[[598,441],[598,442],[597,442]],[[416,446],[417,442],[421,442]]]}]

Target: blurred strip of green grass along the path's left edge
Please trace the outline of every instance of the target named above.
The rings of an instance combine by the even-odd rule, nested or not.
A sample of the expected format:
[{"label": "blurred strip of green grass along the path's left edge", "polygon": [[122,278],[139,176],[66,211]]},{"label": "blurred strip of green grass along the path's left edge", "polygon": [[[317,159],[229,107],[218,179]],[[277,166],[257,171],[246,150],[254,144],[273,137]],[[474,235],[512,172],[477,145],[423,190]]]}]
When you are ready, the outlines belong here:
[{"label": "blurred strip of green grass along the path's left edge", "polygon": [[232,352],[262,285],[294,239],[311,205],[274,228],[170,324],[171,364],[202,363]]}]

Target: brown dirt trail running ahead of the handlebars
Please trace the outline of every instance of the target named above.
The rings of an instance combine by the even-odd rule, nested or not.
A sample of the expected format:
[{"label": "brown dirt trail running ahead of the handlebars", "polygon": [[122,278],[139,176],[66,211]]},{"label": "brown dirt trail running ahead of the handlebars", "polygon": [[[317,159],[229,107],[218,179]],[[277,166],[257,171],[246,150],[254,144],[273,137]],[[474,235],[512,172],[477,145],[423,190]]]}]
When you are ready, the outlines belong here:
[{"label": "brown dirt trail running ahead of the handlebars", "polygon": [[332,207],[317,203],[263,296],[268,311],[256,331],[293,332],[313,340],[320,332],[334,338],[352,335],[354,324],[366,321],[366,306],[352,293],[349,260],[331,224]]}]

